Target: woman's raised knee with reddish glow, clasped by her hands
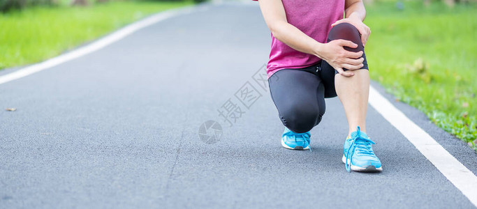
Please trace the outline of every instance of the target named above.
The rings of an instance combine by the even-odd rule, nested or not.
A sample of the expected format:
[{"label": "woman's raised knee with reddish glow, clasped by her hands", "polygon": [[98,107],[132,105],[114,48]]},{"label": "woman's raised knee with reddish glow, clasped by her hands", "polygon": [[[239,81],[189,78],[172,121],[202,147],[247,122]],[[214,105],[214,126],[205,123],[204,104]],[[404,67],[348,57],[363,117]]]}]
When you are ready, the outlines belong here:
[{"label": "woman's raised knee with reddish glow, clasped by her hands", "polygon": [[343,22],[332,27],[330,33],[328,33],[328,39],[329,41],[337,39],[351,40],[358,45],[356,48],[346,47],[346,49],[351,52],[360,52],[364,49],[361,42],[360,32],[355,28],[355,26],[347,22]]}]

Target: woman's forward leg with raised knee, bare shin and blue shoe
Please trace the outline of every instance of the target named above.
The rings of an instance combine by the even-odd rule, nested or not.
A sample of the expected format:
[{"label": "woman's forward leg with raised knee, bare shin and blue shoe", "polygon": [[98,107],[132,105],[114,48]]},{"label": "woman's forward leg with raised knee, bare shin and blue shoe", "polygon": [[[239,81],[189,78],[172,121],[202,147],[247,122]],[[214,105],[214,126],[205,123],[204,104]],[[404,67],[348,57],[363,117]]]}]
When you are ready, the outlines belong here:
[{"label": "woman's forward leg with raised knee, bare shin and blue shoe", "polygon": [[[351,24],[342,23],[334,26],[328,34],[328,41],[335,39],[351,40],[358,45],[356,49],[345,47],[352,52],[364,51],[360,34]],[[361,70],[355,70],[352,77],[332,75],[331,66],[323,62],[321,78],[325,88],[332,88],[334,82],[336,94],[342,101],[346,118],[348,118],[348,137],[344,141],[342,161],[347,171],[379,172],[383,171],[381,161],[374,154],[371,141],[366,132],[366,112],[369,97],[369,71],[367,70],[366,56],[362,54],[364,66]],[[343,69],[346,70],[346,69]],[[325,89],[325,95],[333,95],[332,90]],[[327,94],[328,93],[328,94]],[[336,95],[335,94],[335,95]]]}]

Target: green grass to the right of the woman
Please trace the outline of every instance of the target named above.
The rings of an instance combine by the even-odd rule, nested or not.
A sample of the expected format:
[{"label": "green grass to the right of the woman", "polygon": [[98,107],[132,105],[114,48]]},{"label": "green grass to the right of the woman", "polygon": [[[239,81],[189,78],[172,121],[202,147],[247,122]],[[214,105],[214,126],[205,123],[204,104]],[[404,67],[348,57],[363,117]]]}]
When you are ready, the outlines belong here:
[{"label": "green grass to the right of the woman", "polygon": [[367,6],[372,79],[477,150],[477,5]]}]

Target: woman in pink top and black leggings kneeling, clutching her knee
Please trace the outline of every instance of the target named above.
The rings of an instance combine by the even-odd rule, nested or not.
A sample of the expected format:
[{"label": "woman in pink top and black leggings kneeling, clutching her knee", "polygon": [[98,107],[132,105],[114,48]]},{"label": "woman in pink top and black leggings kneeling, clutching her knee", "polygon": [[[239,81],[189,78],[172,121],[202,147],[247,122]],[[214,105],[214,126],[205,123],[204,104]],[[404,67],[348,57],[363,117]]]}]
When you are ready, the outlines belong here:
[{"label": "woman in pink top and black leggings kneeling, clutching her knee", "polygon": [[[343,162],[347,171],[382,171],[366,134],[369,70],[361,0],[258,0],[272,32],[267,64],[272,100],[285,125],[281,144],[309,149],[309,130],[338,96],[348,119]],[[343,13],[345,18],[343,18]],[[279,78],[279,79],[278,79]]]}]

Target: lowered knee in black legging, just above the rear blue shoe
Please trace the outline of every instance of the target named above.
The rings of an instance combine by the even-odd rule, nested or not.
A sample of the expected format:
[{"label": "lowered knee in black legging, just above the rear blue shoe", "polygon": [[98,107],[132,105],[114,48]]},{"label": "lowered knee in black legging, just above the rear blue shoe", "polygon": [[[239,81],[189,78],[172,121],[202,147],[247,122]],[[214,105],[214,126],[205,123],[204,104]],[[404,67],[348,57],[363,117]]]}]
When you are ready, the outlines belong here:
[{"label": "lowered knee in black legging, just above the rear blue shoe", "polygon": [[281,121],[289,130],[295,133],[308,132],[321,121],[325,107],[309,108],[306,105],[295,104],[281,114]]}]

